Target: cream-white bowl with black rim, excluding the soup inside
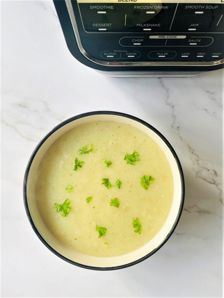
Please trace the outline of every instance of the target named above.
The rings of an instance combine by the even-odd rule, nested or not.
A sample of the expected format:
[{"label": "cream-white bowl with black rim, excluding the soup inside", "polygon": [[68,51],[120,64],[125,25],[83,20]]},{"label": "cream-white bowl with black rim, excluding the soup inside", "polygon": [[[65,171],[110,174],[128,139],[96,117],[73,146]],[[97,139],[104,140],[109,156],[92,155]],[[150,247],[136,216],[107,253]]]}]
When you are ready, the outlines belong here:
[{"label": "cream-white bowl with black rim, excluding the soup inside", "polygon": [[[173,173],[174,196],[165,224],[157,235],[154,236],[144,246],[128,254],[117,257],[93,257],[76,252],[59,242],[45,226],[37,208],[35,197],[35,181],[37,170],[41,159],[47,149],[62,134],[78,125],[99,121],[109,120],[130,124],[153,138],[165,153]],[[154,127],[136,117],[122,114],[119,112],[98,111],[81,114],[57,125],[53,128],[37,145],[27,165],[24,177],[24,205],[29,218],[39,239],[50,249],[51,252],[61,257],[63,260],[88,269],[113,270],[125,268],[145,260],[154,254],[171,236],[179,221],[184,202],[184,178],[179,159],[171,147],[170,143]]]}]

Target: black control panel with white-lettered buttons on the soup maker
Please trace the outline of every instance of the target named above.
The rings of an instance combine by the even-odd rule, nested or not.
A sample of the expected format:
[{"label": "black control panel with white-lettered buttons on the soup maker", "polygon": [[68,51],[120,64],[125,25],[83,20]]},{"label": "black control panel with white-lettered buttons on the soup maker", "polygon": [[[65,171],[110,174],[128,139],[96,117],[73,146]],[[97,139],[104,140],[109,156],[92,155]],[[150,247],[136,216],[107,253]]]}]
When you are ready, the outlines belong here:
[{"label": "black control panel with white-lettered buttons on the soup maker", "polygon": [[224,58],[223,0],[155,2],[71,0],[83,49],[118,63]]}]

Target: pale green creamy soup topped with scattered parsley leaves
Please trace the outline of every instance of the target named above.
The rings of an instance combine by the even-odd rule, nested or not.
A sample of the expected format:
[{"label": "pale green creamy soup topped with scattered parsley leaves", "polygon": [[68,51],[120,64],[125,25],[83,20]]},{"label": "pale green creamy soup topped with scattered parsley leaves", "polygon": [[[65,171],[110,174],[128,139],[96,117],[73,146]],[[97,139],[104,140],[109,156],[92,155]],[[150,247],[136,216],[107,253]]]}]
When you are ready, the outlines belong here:
[{"label": "pale green creamy soup topped with scattered parsley leaves", "polygon": [[47,150],[36,199],[47,228],[64,245],[91,256],[118,256],[159,232],[171,208],[173,177],[147,134],[119,122],[90,122]]}]

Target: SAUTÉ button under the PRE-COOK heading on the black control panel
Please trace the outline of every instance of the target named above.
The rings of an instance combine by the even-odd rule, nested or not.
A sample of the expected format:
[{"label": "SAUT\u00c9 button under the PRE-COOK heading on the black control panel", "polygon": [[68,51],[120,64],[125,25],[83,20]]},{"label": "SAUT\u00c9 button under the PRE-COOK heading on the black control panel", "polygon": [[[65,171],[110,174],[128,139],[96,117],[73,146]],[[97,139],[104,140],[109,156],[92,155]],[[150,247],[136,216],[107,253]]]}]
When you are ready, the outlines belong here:
[{"label": "SAUT\u00c9 button under the PRE-COOK heading on the black control panel", "polygon": [[212,37],[191,36],[185,39],[169,39],[166,46],[209,46],[212,43]]}]

